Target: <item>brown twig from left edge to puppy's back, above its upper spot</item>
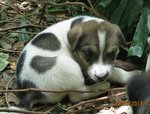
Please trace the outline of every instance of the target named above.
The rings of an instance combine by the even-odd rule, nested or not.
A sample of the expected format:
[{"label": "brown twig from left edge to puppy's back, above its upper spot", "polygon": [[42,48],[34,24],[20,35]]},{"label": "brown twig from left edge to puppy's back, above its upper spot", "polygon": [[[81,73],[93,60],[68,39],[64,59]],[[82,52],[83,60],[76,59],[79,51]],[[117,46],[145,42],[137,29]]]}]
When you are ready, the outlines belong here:
[{"label": "brown twig from left edge to puppy's back, above its upper spot", "polygon": [[22,28],[29,28],[29,27],[46,28],[46,26],[39,26],[39,25],[29,24],[29,25],[22,25],[22,26],[16,26],[16,27],[0,29],[0,32],[9,31],[9,30],[16,30],[16,29],[22,29]]}]

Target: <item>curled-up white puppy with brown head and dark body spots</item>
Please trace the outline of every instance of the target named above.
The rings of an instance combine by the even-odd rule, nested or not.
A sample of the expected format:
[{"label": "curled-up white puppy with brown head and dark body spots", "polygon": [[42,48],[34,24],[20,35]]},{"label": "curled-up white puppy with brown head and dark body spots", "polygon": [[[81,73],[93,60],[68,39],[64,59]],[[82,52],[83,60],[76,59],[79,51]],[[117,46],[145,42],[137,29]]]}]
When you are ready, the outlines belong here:
[{"label": "curled-up white puppy with brown head and dark body spots", "polygon": [[[119,48],[126,46],[117,25],[102,19],[78,16],[54,24],[36,35],[23,49],[16,77],[20,88],[49,90],[106,89]],[[24,94],[19,106],[56,103],[66,95],[72,102],[98,93]]]}]

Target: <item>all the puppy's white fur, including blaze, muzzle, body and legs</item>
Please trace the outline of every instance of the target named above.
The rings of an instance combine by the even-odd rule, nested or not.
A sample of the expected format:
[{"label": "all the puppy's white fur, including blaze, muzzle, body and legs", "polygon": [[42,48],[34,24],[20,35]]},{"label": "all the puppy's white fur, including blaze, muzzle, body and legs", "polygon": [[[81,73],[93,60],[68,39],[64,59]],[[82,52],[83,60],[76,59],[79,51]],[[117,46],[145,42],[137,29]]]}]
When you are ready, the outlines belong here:
[{"label": "all the puppy's white fur, including blaze, muzzle, body and legs", "polygon": [[[80,16],[79,16],[80,17]],[[53,33],[58,38],[61,43],[61,49],[57,51],[42,50],[38,47],[33,46],[31,43],[28,43],[24,48],[24,51],[27,50],[26,58],[24,61],[23,70],[20,75],[20,79],[29,80],[35,83],[38,88],[49,89],[49,90],[68,90],[68,89],[78,89],[78,90],[91,90],[91,89],[107,89],[110,87],[110,83],[107,81],[97,82],[94,85],[86,86],[84,85],[84,78],[79,64],[72,58],[72,55],[69,51],[70,45],[67,39],[67,32],[70,30],[70,24],[74,19],[79,17],[71,18],[66,21],[59,22],[51,27],[48,27],[42,33]],[[89,20],[96,20],[99,23],[104,21],[102,19],[83,16],[84,22]],[[38,35],[39,35],[38,34]],[[37,36],[38,36],[37,35]],[[104,64],[102,54],[105,48],[105,36],[106,32],[98,31],[99,36],[99,45],[100,45],[100,57],[98,63],[94,63],[88,69],[89,76],[93,80],[97,80],[96,76],[103,77],[107,73],[110,73],[112,76],[111,80],[125,83],[132,75],[140,73],[140,71],[127,72],[119,68],[115,68],[112,65]],[[36,37],[35,37],[36,38]],[[150,39],[148,39],[150,44]],[[28,51],[29,50],[29,51]],[[56,65],[52,67],[49,71],[44,74],[39,74],[35,72],[30,67],[31,58],[34,56],[40,55],[44,57],[56,57]],[[150,59],[149,59],[150,61]],[[149,67],[149,62],[148,62]],[[30,72],[29,72],[30,71]],[[100,93],[44,93],[47,96],[45,102],[59,102],[66,94],[69,95],[69,98],[72,102],[78,102],[84,99],[95,97]],[[4,114],[4,113],[3,113]]]}]

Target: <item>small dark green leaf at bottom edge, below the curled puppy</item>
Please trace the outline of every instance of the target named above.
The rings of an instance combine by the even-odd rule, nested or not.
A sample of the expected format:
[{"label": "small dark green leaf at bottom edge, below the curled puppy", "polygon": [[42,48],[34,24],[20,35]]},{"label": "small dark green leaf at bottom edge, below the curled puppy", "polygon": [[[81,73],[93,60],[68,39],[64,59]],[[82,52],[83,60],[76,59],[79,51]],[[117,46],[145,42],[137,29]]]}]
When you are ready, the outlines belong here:
[{"label": "small dark green leaf at bottom edge, below the curled puppy", "polygon": [[49,114],[60,114],[67,112],[68,110],[64,108],[60,103],[56,104]]}]

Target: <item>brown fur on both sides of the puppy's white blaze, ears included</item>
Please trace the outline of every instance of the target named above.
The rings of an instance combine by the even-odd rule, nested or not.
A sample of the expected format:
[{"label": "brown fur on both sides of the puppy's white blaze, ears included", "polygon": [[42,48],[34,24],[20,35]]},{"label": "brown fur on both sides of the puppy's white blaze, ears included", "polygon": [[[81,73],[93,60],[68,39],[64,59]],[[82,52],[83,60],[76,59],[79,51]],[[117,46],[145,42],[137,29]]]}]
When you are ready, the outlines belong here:
[{"label": "brown fur on both sides of the puppy's white blaze, ears included", "polygon": [[[73,57],[83,70],[87,70],[88,66],[96,62],[100,56],[98,31],[106,32],[103,55],[104,60],[105,57],[108,59],[107,63],[113,64],[111,61],[116,59],[119,47],[126,46],[126,41],[117,25],[94,20],[77,24],[68,32],[68,41]],[[88,57],[88,53],[91,57]]]}]

